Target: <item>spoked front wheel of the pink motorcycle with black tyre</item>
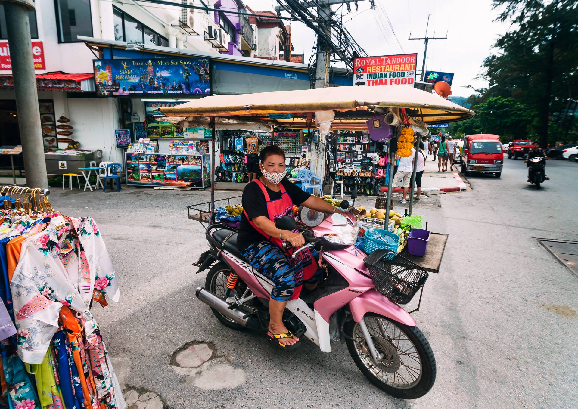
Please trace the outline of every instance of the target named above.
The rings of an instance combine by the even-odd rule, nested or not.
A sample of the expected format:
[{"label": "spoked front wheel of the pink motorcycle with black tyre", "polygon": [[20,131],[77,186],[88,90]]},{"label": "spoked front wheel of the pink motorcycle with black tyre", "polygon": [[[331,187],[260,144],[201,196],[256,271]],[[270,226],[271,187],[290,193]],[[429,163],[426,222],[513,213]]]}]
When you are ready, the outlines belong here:
[{"label": "spoked front wheel of the pink motorcycle with black tyre", "polygon": [[372,360],[360,325],[346,322],[347,349],[355,365],[373,385],[401,399],[417,399],[432,388],[436,363],[428,340],[417,326],[407,326],[377,314],[363,318],[378,354],[378,365]]}]

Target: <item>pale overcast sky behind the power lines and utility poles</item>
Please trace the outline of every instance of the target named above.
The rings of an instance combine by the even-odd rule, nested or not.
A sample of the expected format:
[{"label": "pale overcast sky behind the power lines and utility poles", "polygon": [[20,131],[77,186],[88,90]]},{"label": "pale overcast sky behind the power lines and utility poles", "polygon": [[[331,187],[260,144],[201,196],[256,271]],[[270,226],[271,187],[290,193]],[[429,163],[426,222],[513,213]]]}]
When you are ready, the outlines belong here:
[{"label": "pale overcast sky behind the power lines and utility poles", "polygon": [[[255,11],[271,10],[276,0],[244,0]],[[451,87],[453,95],[469,96],[471,90],[466,85],[480,88],[485,81],[476,79],[481,72],[484,58],[491,52],[492,44],[499,34],[507,31],[509,24],[493,20],[498,15],[492,10],[491,0],[376,0],[376,10],[369,9],[369,1],[360,1],[359,10],[351,2],[353,13],[347,13],[343,6],[343,21],[353,38],[368,55],[417,53],[418,69],[424,55],[424,42],[408,40],[425,36],[428,14],[428,35],[445,37],[447,40],[430,40],[426,69],[455,73]],[[333,7],[339,10],[338,6]],[[399,44],[391,32],[387,16]],[[341,11],[339,10],[339,16]],[[348,21],[349,20],[349,21]],[[313,32],[304,24],[291,22],[292,43],[295,54],[305,53],[309,60],[314,42]]]}]

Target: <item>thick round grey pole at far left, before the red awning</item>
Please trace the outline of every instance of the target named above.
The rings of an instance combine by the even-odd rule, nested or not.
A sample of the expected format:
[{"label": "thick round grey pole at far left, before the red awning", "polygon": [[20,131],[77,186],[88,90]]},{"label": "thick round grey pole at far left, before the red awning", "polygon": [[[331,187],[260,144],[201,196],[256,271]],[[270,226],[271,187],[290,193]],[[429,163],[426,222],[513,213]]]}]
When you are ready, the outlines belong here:
[{"label": "thick round grey pole at far left, before the red awning", "polygon": [[6,32],[12,61],[26,184],[32,188],[48,188],[28,21],[28,12],[35,10],[34,1],[0,0],[0,2],[6,14]]}]

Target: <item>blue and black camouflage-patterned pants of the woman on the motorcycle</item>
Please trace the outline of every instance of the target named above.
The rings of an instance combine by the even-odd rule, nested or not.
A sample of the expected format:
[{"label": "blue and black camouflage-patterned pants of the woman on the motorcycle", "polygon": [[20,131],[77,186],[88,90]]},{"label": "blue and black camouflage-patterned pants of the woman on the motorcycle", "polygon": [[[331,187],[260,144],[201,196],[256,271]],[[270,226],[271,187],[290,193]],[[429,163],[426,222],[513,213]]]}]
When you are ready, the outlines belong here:
[{"label": "blue and black camouflage-patterned pants of the woman on the motorcycle", "polygon": [[[251,244],[246,249],[240,249],[244,258],[255,270],[273,281],[271,298],[277,301],[287,301],[293,295],[296,285],[314,284],[319,281],[321,269],[317,269],[315,275],[302,283],[295,282],[295,272],[289,265],[287,257],[283,251],[271,241],[260,241]],[[315,261],[319,261],[319,253],[312,248],[309,249]]]}]

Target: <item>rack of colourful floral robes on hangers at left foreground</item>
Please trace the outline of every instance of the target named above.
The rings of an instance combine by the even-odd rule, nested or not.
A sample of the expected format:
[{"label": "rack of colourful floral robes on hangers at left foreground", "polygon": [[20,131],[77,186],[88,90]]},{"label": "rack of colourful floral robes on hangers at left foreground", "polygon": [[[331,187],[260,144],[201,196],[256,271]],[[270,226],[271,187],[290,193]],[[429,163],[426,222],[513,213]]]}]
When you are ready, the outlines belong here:
[{"label": "rack of colourful floral robes on hangers at left foreground", "polygon": [[118,302],[97,223],[65,217],[48,189],[0,187],[0,407],[123,408],[93,306]]}]

